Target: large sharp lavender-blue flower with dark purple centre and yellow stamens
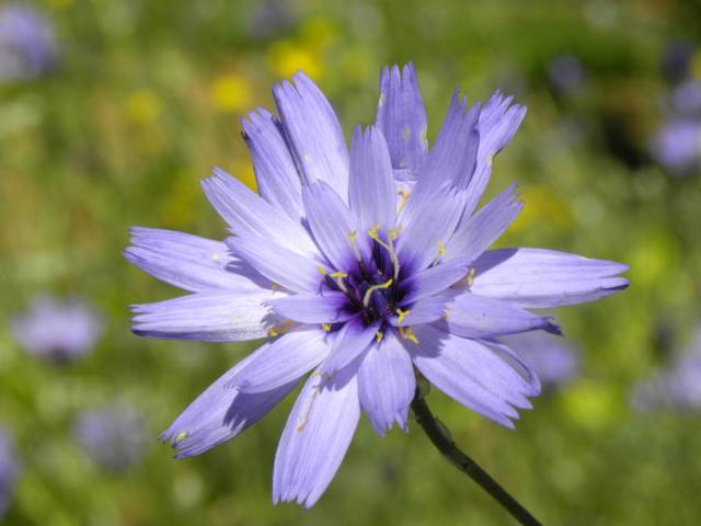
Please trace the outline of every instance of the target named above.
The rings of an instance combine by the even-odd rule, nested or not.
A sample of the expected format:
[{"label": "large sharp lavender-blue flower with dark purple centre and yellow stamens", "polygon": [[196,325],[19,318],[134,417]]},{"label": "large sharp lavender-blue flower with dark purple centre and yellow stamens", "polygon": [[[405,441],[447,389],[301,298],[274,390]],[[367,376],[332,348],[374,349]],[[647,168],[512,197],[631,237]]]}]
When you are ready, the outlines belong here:
[{"label": "large sharp lavender-blue flower with dark purple centre and yellow stamens", "polygon": [[280,118],[242,122],[260,195],[215,170],[205,194],[226,242],[135,228],[126,258],[193,294],[134,306],[143,336],[242,341],[268,336],[165,431],[176,457],[252,425],[309,371],[275,457],[275,502],[311,506],[361,411],[382,436],[406,428],[414,367],[437,388],[512,427],[539,392],[529,367],[496,339],[542,329],[526,308],[589,301],[628,286],[624,265],[539,249],[486,250],[521,209],[512,185],[475,211],[494,156],[525,107],[495,93],[468,106],[456,92],[433,148],[416,75],[386,68],[374,126],[348,151],[324,95],[302,72],[273,88]]}]

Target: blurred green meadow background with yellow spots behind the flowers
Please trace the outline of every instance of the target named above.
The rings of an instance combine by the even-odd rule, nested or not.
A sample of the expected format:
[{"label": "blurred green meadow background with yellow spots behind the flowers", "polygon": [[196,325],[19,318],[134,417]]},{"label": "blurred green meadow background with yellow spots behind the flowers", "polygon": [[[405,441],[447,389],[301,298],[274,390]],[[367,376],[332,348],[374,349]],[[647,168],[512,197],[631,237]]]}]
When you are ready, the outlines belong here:
[{"label": "blurred green meadow background with yellow spots behind the flowers", "polygon": [[[374,121],[380,68],[413,61],[435,137],[452,89],[502,88],[528,106],[495,161],[490,193],[520,183],[521,217],[501,245],[631,265],[632,287],[561,309],[582,351],[577,378],[535,400],[515,431],[435,390],[458,444],[545,524],[698,524],[701,420],[631,409],[634,386],[682,346],[699,317],[698,170],[675,176],[648,144],[665,118],[670,43],[693,45],[698,2],[383,0],[279,2],[45,0],[60,59],[0,84],[0,424],[22,477],[8,524],[510,524],[415,423],[378,438],[361,421],[311,510],[271,504],[291,398],[233,442],[173,460],[157,435],[254,344],[145,341],[127,306],[181,293],[122,258],[133,225],[225,237],[198,180],[220,165],[254,185],[238,119],[272,107],[269,87],[307,71],[346,133]],[[558,87],[552,64],[584,76]],[[688,76],[701,76],[701,53]],[[64,367],[30,357],[7,320],[43,291],[90,298],[107,330]],[[71,422],[99,404],[137,407],[143,460],[90,462]]]}]

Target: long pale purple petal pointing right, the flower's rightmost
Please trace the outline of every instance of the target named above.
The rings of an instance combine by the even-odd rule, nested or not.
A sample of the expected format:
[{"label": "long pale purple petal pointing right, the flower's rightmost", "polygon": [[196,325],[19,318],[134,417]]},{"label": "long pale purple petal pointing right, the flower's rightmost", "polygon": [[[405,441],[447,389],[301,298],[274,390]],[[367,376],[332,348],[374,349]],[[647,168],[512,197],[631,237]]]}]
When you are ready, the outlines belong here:
[{"label": "long pale purple petal pointing right, the flower's rightmost", "polygon": [[527,308],[582,304],[628,287],[628,266],[543,249],[499,249],[474,262],[471,290]]}]

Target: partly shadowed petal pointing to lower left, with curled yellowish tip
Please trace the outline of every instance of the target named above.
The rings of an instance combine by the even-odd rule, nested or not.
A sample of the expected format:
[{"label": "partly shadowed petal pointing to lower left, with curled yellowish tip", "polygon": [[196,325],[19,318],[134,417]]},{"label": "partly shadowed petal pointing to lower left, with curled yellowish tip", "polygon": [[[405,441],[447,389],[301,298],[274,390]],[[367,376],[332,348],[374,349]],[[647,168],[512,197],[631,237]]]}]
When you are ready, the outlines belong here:
[{"label": "partly shadowed petal pointing to lower left, with curled yellowish tip", "polygon": [[199,395],[161,434],[177,450],[176,458],[199,455],[233,438],[262,419],[291,391],[299,378],[268,392],[242,393],[228,388],[252,355],[239,362]]}]

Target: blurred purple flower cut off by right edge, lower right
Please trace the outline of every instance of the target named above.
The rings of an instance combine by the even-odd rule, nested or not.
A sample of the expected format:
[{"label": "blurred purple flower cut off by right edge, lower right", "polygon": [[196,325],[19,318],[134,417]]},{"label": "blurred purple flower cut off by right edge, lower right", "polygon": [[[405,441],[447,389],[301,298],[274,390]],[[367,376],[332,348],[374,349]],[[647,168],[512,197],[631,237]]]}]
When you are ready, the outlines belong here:
[{"label": "blurred purple flower cut off by right edge, lower right", "polygon": [[667,369],[635,386],[632,404],[641,412],[701,410],[701,327]]}]

